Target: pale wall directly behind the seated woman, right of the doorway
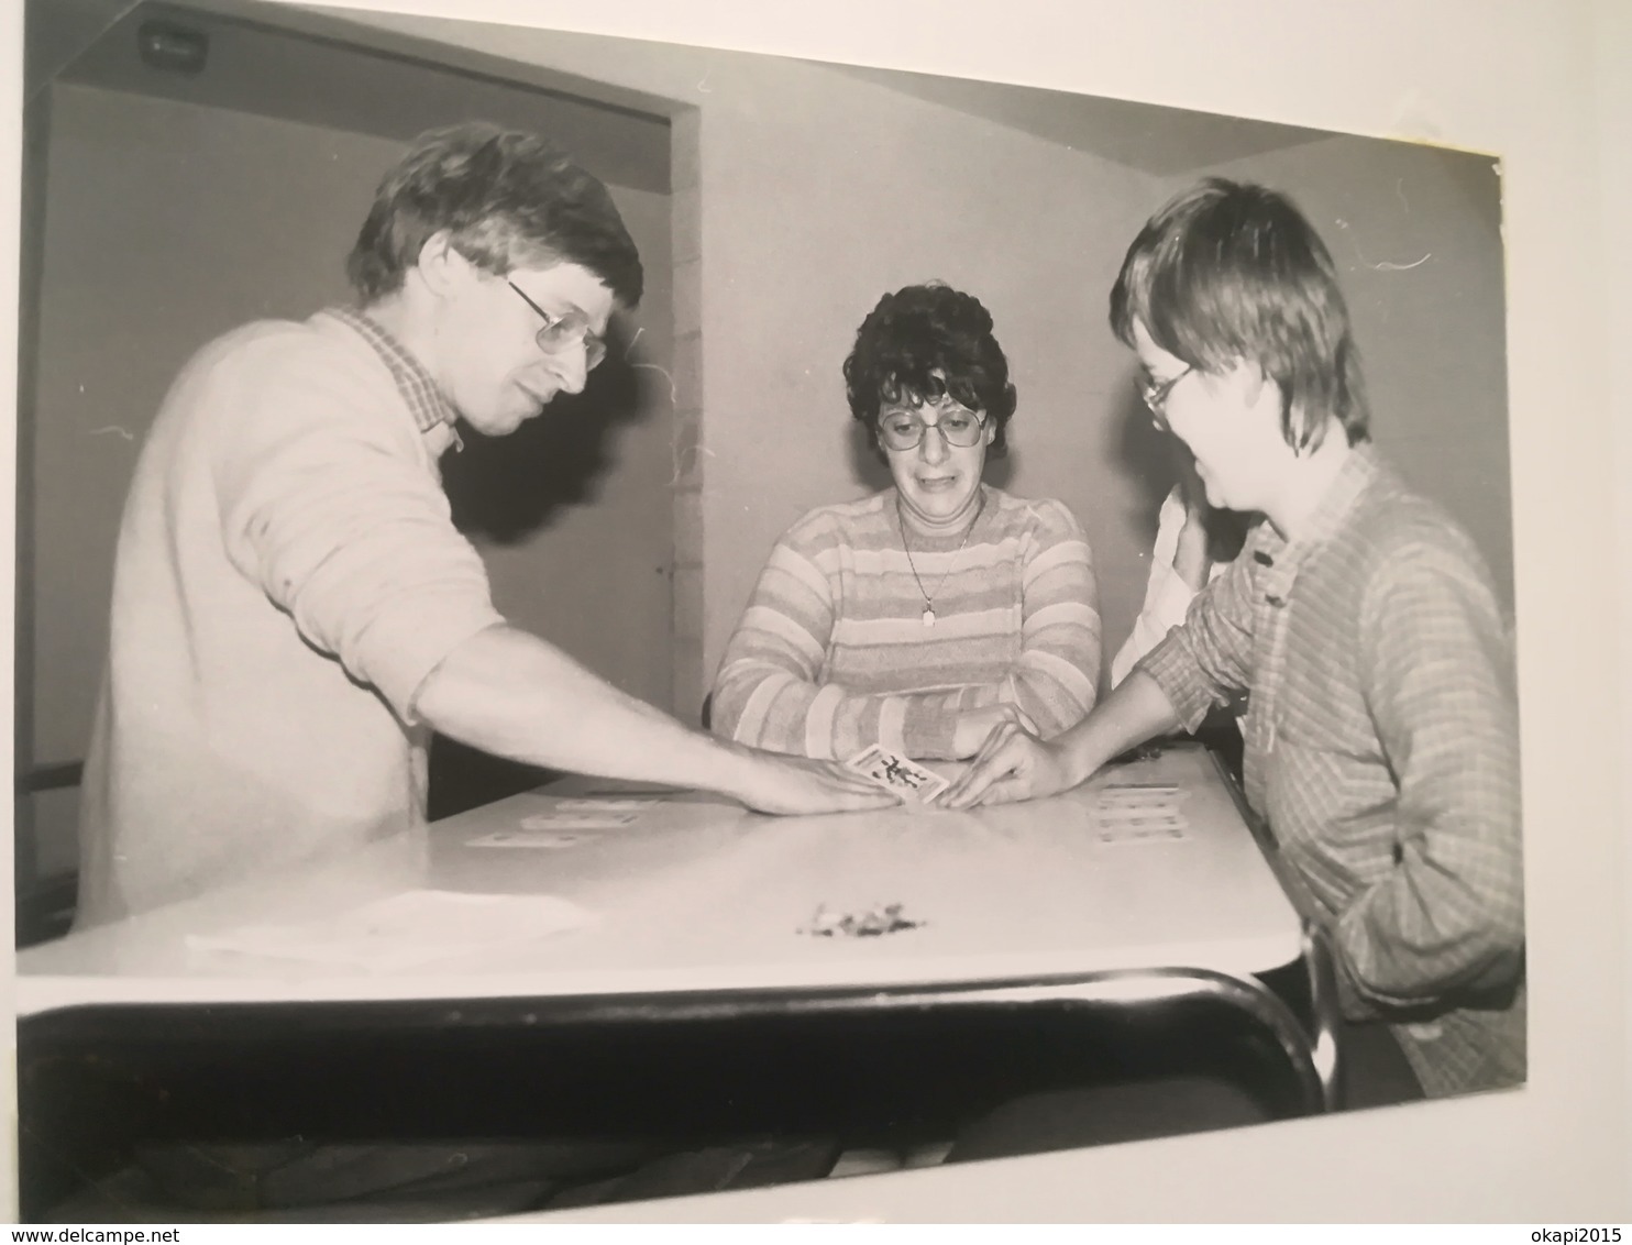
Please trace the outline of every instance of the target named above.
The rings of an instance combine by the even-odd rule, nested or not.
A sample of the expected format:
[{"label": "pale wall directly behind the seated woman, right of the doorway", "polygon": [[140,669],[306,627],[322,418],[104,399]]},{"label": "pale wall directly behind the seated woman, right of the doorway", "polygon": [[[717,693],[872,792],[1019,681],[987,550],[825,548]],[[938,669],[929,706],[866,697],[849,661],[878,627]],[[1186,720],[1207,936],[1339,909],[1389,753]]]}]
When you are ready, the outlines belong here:
[{"label": "pale wall directly behind the seated woman, right of the doorway", "polygon": [[703,400],[700,429],[682,421],[677,462],[682,488],[702,491],[677,529],[700,530],[703,556],[679,573],[676,635],[698,636],[708,677],[777,535],[811,506],[883,483],[857,452],[839,369],[878,295],[930,277],[991,308],[1020,393],[1012,455],[992,478],[1077,512],[1106,649],[1121,641],[1170,478],[1105,295],[1159,197],[1154,176],[816,64],[354,16],[666,96],[694,117],[702,261],[695,299],[677,300],[676,362],[702,375]]}]

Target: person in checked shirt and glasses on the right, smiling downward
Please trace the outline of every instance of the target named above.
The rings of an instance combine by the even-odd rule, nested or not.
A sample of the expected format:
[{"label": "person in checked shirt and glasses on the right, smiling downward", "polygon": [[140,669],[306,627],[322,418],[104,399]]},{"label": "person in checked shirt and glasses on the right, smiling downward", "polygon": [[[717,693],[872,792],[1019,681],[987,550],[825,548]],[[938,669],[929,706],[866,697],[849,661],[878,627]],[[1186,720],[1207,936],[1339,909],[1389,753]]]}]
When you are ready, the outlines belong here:
[{"label": "person in checked shirt and glasses on the right, smiling downward", "polygon": [[1004,724],[951,808],[1074,786],[1247,693],[1244,790],[1319,906],[1345,1015],[1428,1097],[1524,1079],[1511,633],[1472,538],[1371,445],[1332,256],[1209,179],[1128,250],[1111,326],[1242,555],[1075,728]]}]

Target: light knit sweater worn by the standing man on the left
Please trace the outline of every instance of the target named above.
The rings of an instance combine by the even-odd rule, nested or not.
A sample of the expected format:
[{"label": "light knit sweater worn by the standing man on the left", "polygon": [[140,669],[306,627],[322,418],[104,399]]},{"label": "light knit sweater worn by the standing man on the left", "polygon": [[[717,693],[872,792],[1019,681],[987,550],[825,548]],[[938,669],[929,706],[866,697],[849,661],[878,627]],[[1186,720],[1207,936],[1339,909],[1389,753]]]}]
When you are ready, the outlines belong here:
[{"label": "light knit sweater worn by the standing man on the left", "polygon": [[171,387],[119,529],[78,925],[423,826],[413,697],[501,622],[426,385],[320,313],[228,333]]}]

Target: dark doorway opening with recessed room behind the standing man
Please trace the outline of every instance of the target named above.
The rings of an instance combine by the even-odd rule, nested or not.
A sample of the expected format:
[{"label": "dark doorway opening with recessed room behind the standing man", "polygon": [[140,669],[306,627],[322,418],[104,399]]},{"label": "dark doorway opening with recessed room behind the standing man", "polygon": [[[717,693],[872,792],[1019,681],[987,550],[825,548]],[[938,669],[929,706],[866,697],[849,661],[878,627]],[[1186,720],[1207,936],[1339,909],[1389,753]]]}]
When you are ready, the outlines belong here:
[{"label": "dark doorway opening with recessed room behind the standing man", "polygon": [[[72,915],[78,777],[119,514],[165,388],[204,343],[344,302],[344,256],[416,134],[547,134],[607,183],[646,269],[583,395],[444,460],[494,604],[641,700],[672,703],[671,122],[545,70],[258,10],[33,0],[18,392],[20,943]],[[263,20],[263,15],[273,21]],[[294,23],[300,21],[300,28]],[[685,707],[679,707],[682,713]],[[439,811],[534,775],[439,746]]]}]

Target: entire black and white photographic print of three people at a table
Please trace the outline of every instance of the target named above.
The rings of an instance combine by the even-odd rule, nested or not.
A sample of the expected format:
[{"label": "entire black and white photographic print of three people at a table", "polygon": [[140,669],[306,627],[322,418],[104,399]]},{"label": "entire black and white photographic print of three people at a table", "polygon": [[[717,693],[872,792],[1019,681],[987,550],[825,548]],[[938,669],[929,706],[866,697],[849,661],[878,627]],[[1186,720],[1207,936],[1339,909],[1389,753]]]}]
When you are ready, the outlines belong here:
[{"label": "entire black and white photographic print of three people at a table", "polygon": [[1528,1093],[1501,152],[24,36],[23,1222],[795,1219]]}]

